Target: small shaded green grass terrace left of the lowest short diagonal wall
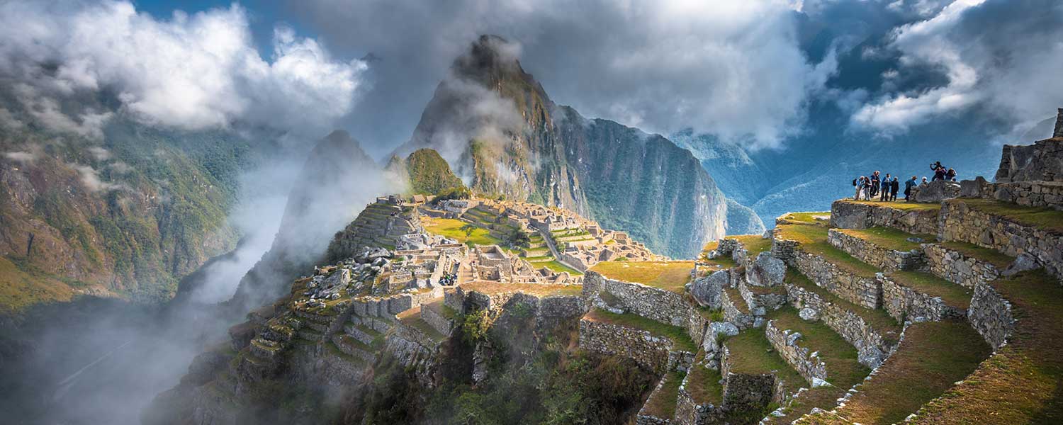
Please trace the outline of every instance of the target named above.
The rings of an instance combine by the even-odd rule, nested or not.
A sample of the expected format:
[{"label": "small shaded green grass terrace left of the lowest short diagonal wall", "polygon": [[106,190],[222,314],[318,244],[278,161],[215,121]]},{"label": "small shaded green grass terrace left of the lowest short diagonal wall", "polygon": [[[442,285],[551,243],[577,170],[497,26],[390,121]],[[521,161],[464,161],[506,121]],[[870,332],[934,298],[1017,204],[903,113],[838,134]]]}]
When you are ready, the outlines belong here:
[{"label": "small shaded green grass terrace left of the lowest short diagonal wall", "polygon": [[727,361],[731,373],[759,375],[774,372],[791,390],[808,386],[808,381],[775,352],[764,336],[764,329],[746,329],[727,338],[724,345],[730,353]]}]

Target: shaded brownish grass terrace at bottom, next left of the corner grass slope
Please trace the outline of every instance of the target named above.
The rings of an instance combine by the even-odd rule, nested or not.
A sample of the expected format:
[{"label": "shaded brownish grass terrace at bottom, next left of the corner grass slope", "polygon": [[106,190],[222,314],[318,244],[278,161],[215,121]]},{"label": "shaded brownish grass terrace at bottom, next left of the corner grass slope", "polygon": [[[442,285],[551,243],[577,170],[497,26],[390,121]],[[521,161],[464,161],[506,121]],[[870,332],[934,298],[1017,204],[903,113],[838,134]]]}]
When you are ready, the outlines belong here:
[{"label": "shaded brownish grass terrace at bottom, next left of the corner grass slope", "polygon": [[[798,423],[893,424],[942,395],[952,384],[964,379],[990,355],[990,347],[966,322],[924,322],[905,330],[896,353],[865,381],[838,415],[822,413]],[[1024,389],[1025,391],[1026,389]],[[840,416],[840,418],[839,418]],[[999,421],[985,415],[982,422]]]}]

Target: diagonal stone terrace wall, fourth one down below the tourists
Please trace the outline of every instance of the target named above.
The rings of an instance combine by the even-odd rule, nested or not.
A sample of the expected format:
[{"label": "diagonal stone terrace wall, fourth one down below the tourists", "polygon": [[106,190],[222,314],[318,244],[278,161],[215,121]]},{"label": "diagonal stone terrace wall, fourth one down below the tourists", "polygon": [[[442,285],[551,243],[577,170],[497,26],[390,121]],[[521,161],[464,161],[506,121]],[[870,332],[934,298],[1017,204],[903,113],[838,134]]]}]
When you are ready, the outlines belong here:
[{"label": "diagonal stone terrace wall, fourth one down below the tourists", "polygon": [[843,300],[789,268],[783,280],[790,305],[802,317],[819,320],[856,346],[858,360],[875,368],[896,348],[901,325],[885,310]]}]

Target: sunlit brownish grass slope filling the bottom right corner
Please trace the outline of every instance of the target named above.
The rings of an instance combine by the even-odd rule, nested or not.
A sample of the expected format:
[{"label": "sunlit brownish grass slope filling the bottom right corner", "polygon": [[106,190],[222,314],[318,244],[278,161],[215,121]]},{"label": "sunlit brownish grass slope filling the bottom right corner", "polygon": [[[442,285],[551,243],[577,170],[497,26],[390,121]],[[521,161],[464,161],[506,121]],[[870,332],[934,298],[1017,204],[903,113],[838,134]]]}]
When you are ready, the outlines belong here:
[{"label": "sunlit brownish grass slope filling the bottom right corner", "polygon": [[914,423],[1063,423],[1063,287],[1043,270],[991,285],[1011,302],[1015,333],[962,384],[924,406]]}]

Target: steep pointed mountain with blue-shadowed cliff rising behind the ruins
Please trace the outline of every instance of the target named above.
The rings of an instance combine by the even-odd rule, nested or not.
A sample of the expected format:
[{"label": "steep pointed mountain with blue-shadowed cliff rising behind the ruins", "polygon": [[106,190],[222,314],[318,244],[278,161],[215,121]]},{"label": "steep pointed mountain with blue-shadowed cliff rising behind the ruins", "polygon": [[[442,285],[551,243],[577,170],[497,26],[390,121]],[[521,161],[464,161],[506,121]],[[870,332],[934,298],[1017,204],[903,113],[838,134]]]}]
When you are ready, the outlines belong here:
[{"label": "steep pointed mountain with blue-shadowed cliff rising behind the ruins", "polygon": [[420,148],[439,151],[478,193],[562,206],[673,257],[763,230],[748,214],[728,224],[723,193],[687,150],[554,104],[500,37],[482,36],[454,62],[396,154]]}]

